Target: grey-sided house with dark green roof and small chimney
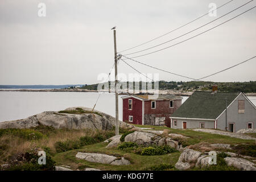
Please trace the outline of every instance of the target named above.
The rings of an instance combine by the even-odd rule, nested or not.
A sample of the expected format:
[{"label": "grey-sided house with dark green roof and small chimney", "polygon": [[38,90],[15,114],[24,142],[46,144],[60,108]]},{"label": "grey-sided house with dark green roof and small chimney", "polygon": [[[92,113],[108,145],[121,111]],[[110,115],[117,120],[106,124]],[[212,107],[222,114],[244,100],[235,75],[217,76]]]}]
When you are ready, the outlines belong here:
[{"label": "grey-sided house with dark green roof and small chimney", "polygon": [[256,107],[242,92],[196,91],[171,115],[174,129],[253,129]]}]

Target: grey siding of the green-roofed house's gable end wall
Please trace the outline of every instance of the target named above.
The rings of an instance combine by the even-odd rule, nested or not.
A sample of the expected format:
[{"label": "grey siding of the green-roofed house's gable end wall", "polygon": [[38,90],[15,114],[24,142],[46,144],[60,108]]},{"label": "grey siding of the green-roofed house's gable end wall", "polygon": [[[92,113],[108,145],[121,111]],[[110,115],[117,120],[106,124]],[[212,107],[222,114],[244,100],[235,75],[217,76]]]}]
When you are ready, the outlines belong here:
[{"label": "grey siding of the green-roofed house's gable end wall", "polygon": [[[238,100],[245,101],[245,113],[238,114]],[[234,123],[235,132],[241,129],[247,129],[247,123],[252,122],[253,128],[255,128],[256,124],[256,109],[251,103],[240,94],[236,98],[236,100],[228,107],[227,109],[227,127],[229,123]],[[221,116],[217,119],[217,129],[225,130],[226,128],[226,111],[221,114]]]}]

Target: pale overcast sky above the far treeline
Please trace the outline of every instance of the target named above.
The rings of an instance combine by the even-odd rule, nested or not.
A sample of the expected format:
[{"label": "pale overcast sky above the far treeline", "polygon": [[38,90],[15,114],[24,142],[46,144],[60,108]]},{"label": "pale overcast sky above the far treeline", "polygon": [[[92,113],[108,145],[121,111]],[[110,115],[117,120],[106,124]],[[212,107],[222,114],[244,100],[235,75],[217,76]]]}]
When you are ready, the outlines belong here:
[{"label": "pale overcast sky above the far treeline", "polygon": [[[137,46],[165,34],[212,7],[229,0],[1,0],[0,84],[95,84],[114,63],[112,27],[117,26],[117,50]],[[250,0],[234,0],[187,26],[143,46],[121,52],[125,55],[174,39],[214,20]],[[39,3],[46,16],[38,16]],[[156,51],[208,30],[255,6],[246,6],[162,46],[130,57]],[[192,78],[201,78],[255,56],[256,8],[177,46],[134,58],[148,65]],[[128,56],[128,57],[129,57]],[[144,74],[159,73],[159,80],[191,81],[125,60]],[[255,81],[256,59],[205,78],[205,81]],[[112,76],[114,75],[112,70]],[[118,73],[128,77],[134,69],[119,60]],[[112,77],[112,80],[114,77]]]}]

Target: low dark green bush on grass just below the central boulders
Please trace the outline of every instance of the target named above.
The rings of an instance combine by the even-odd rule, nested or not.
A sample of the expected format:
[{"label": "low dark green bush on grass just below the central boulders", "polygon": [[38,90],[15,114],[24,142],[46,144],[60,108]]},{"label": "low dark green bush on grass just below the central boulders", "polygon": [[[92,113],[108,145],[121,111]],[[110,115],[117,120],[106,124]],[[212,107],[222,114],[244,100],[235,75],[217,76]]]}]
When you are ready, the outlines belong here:
[{"label": "low dark green bush on grass just below the central boulders", "polygon": [[141,155],[164,155],[172,152],[176,150],[170,146],[155,146],[143,148]]}]

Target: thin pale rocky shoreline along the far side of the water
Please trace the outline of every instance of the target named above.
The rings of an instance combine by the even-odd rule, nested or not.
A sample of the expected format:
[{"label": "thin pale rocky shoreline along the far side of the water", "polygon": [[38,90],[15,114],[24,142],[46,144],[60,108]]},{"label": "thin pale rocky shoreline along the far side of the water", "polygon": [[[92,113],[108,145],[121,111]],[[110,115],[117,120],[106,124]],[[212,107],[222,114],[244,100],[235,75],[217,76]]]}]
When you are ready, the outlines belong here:
[{"label": "thin pale rocky shoreline along the far side of the water", "polygon": [[[98,92],[97,90],[87,89],[0,89],[0,92]],[[106,91],[106,93],[109,93]],[[114,93],[114,92],[111,92]],[[191,96],[193,92],[180,92],[176,90],[159,90],[160,94],[174,94],[176,96]],[[127,93],[119,93],[119,95],[127,95]],[[256,93],[245,93],[246,96],[256,96]]]}]

